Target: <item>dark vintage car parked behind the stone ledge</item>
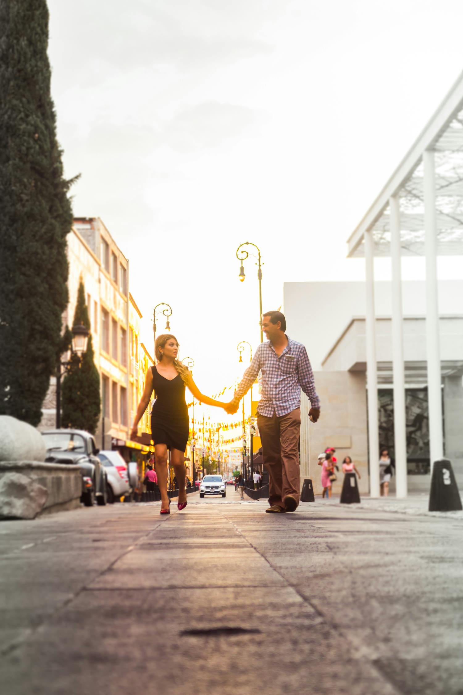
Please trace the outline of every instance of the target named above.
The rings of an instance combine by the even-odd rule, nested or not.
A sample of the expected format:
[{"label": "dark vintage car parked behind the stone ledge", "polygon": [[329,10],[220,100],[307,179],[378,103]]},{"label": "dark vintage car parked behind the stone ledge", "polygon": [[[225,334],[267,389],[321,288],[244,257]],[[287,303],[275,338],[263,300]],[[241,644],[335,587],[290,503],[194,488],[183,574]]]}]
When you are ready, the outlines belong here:
[{"label": "dark vintage car parked behind the stone ledge", "polygon": [[99,505],[106,505],[108,475],[96,456],[99,449],[96,448],[92,434],[84,430],[47,430],[42,432],[42,436],[47,446],[47,464],[73,464],[81,467],[81,502],[86,507],[92,507],[96,499]]}]

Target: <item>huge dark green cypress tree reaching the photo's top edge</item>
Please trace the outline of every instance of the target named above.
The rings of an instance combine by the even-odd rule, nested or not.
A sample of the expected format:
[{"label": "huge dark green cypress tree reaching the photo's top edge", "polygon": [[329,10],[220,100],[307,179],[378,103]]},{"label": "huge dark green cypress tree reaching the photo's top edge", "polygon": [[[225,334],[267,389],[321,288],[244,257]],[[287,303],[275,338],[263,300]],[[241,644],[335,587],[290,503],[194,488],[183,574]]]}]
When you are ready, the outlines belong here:
[{"label": "huge dark green cypress tree reaching the photo's top edge", "polygon": [[0,1],[0,414],[37,425],[60,352],[72,212],[46,0]]}]

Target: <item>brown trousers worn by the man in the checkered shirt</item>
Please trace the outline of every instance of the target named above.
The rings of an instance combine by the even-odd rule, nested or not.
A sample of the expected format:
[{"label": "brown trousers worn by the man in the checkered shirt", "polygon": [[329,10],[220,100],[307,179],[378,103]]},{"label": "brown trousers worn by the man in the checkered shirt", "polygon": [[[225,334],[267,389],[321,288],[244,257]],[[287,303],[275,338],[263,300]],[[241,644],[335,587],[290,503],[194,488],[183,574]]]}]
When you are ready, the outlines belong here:
[{"label": "brown trousers worn by the man in the checkered shirt", "polygon": [[262,439],[262,457],[269,471],[269,504],[285,507],[285,497],[299,502],[300,466],[298,441],[301,432],[301,409],[278,418],[258,414]]}]

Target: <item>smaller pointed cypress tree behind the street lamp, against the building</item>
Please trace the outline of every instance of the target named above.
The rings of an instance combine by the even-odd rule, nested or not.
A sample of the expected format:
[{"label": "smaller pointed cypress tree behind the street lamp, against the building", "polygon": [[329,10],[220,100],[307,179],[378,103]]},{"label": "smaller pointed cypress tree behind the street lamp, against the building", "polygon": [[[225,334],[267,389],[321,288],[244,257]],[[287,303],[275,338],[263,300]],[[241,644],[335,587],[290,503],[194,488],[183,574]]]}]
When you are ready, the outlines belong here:
[{"label": "smaller pointed cypress tree behind the street lamp, against the building", "polygon": [[[78,286],[74,324],[90,330],[85,288],[81,279]],[[82,363],[76,354],[71,354],[69,372],[62,382],[62,427],[87,430],[94,434],[100,416],[100,377],[94,363],[92,334],[88,338],[87,351]]]}]

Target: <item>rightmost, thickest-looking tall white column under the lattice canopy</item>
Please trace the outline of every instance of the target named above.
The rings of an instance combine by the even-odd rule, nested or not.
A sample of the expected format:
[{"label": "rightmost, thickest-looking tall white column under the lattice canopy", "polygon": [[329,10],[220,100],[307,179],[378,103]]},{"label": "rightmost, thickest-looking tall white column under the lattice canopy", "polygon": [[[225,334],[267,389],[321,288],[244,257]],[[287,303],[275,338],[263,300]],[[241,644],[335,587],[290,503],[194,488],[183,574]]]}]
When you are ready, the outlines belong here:
[{"label": "rightmost, thickest-looking tall white column under the lattice canopy", "polygon": [[434,152],[423,152],[424,232],[426,258],[426,357],[428,363],[428,408],[431,471],[444,456],[442,436],[441,359],[439,307],[437,304],[437,220]]}]

